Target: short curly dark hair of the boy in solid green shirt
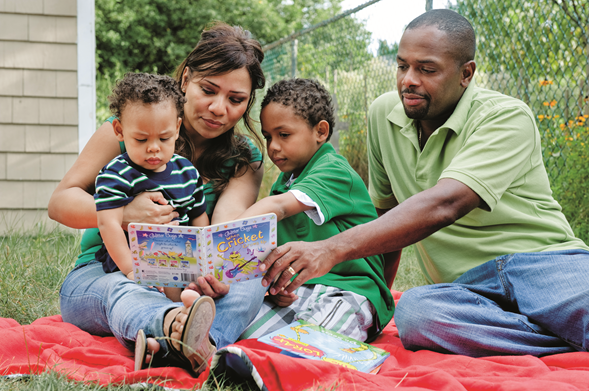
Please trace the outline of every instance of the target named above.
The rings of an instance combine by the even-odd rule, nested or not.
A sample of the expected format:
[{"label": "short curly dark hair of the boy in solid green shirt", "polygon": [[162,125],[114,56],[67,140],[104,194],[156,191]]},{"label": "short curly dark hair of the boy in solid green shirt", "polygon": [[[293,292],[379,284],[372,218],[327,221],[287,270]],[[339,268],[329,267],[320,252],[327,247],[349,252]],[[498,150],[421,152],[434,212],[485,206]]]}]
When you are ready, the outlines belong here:
[{"label": "short curly dark hair of the boy in solid green shirt", "polygon": [[327,140],[331,137],[335,125],[331,95],[317,80],[281,80],[268,89],[262,101],[262,109],[272,102],[292,107],[295,115],[307,121],[311,127],[322,120],[327,121]]}]

